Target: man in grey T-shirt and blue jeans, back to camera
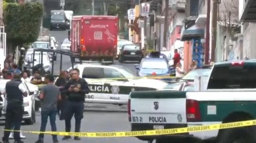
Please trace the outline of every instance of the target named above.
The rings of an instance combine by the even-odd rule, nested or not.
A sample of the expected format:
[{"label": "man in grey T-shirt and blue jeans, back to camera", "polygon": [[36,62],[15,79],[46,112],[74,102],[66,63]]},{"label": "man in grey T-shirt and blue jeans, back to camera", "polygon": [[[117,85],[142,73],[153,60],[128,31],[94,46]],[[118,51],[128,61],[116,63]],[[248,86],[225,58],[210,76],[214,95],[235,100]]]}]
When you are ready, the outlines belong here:
[{"label": "man in grey T-shirt and blue jeans, back to camera", "polygon": [[[52,131],[57,131],[56,127],[56,115],[57,115],[57,101],[61,100],[61,94],[59,87],[54,85],[54,76],[47,75],[45,77],[47,85],[42,87],[39,98],[42,102],[41,106],[41,132],[45,132],[48,116],[50,117],[50,123]],[[57,135],[53,135],[53,142],[58,143]],[[36,143],[44,143],[44,134],[39,134],[39,139]]]}]

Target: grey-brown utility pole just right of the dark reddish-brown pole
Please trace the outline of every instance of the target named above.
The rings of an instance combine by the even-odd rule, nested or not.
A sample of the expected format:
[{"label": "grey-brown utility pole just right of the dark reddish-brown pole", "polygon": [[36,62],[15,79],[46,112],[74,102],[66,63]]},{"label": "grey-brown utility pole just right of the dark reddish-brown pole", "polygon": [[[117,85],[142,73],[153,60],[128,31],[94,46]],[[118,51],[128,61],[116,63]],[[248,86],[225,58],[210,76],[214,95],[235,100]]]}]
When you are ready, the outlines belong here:
[{"label": "grey-brown utility pole just right of the dark reddish-brown pole", "polygon": [[217,34],[217,18],[218,18],[218,0],[212,2],[212,38],[211,38],[211,62],[215,61],[216,34]]}]

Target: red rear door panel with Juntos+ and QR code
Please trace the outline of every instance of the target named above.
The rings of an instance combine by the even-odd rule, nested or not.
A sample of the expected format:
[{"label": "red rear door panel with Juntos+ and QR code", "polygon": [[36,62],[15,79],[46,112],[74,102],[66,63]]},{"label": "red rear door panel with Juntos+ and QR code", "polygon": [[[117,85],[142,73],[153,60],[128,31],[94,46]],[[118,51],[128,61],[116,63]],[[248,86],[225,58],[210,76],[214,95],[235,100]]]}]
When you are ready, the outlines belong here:
[{"label": "red rear door panel with Juntos+ and QR code", "polygon": [[118,21],[107,18],[85,19],[82,37],[89,53],[116,53]]}]

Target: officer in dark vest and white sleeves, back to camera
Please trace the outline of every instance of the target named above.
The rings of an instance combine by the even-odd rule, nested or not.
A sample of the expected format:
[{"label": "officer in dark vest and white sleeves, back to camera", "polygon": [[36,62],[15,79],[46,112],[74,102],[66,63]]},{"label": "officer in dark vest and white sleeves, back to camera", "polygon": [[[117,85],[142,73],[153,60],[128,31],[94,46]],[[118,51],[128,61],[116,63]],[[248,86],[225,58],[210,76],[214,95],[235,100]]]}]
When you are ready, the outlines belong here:
[{"label": "officer in dark vest and white sleeves, back to camera", "polygon": [[[23,116],[23,96],[27,97],[28,93],[24,84],[21,82],[21,75],[14,73],[13,79],[8,81],[5,86],[5,93],[7,98],[7,107],[5,115],[5,130],[10,130],[11,125],[14,124],[14,143],[23,143],[20,140],[20,125]],[[9,143],[10,131],[4,131],[3,142]]]}]

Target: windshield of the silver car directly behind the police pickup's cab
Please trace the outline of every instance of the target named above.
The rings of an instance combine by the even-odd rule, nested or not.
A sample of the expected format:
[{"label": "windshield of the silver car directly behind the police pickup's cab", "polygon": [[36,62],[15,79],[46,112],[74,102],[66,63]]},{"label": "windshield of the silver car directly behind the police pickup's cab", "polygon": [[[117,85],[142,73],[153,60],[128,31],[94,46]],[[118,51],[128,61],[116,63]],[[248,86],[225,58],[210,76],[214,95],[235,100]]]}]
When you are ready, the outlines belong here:
[{"label": "windshield of the silver car directly behind the police pickup's cab", "polygon": [[186,74],[182,80],[194,80],[196,75],[199,76],[209,76],[211,74],[211,69],[194,69]]}]

